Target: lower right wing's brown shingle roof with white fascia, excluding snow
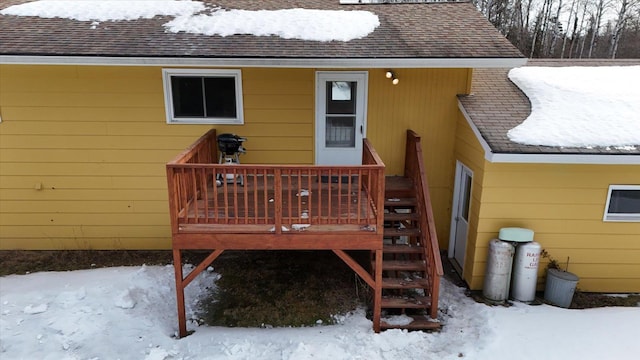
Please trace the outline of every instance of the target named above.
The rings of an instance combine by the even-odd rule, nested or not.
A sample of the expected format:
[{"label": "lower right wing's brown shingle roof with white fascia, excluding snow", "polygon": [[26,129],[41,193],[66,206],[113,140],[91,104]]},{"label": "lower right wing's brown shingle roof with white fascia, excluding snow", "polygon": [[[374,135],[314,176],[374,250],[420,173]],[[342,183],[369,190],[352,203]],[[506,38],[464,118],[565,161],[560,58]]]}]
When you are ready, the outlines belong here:
[{"label": "lower right wing's brown shingle roof with white fascia, excluding snow", "polygon": [[[640,65],[640,60],[534,59],[526,66]],[[508,78],[509,68],[474,69],[470,95],[459,95],[459,108],[492,162],[640,164],[640,147],[555,147],[512,142],[507,132],[531,113],[527,96]]]}]

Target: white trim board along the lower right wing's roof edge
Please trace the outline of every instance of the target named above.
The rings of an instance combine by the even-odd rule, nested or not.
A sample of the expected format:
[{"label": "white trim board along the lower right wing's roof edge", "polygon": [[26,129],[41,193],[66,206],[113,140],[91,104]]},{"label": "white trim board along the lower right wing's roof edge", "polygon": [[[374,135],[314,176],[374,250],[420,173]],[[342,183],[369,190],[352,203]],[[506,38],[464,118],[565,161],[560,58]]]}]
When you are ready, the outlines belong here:
[{"label": "white trim board along the lower right wing's roof edge", "polygon": [[640,165],[640,155],[608,154],[506,154],[494,153],[489,143],[482,137],[480,130],[471,120],[460,100],[458,109],[471,127],[476,139],[484,150],[484,158],[491,163],[530,163],[530,164],[592,164],[592,165]]}]

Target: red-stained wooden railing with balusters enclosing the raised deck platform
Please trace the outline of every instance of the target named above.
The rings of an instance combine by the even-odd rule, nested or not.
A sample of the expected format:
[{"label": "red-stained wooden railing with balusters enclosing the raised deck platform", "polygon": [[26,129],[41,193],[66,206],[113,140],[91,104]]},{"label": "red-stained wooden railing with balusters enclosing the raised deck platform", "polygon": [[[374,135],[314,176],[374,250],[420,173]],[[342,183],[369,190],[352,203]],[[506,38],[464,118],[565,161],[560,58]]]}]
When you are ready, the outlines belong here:
[{"label": "red-stained wooden railing with balusters enclosing the raised deck platform", "polygon": [[382,233],[384,164],[366,139],[359,166],[218,164],[217,158],[211,130],[167,164],[174,234],[307,227]]}]

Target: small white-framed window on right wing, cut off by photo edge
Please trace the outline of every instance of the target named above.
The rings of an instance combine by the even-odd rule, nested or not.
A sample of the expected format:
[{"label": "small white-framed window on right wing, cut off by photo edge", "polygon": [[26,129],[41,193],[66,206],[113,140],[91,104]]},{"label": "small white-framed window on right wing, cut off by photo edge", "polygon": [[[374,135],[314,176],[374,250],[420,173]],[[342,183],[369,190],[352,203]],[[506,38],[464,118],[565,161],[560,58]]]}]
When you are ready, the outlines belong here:
[{"label": "small white-framed window on right wing, cut off by photo edge", "polygon": [[640,185],[609,185],[603,220],[640,222]]}]

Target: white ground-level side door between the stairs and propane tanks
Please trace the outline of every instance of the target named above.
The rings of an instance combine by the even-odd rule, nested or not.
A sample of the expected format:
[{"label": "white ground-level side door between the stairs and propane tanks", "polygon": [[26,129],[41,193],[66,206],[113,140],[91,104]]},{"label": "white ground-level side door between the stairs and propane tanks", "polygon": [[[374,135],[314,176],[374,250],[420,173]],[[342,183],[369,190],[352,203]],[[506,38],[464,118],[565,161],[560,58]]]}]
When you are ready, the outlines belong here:
[{"label": "white ground-level side door between the stairs and propane tanks", "polygon": [[467,249],[472,183],[473,173],[468,167],[458,162],[456,164],[456,180],[453,189],[449,240],[449,258],[454,260],[455,265],[459,268],[458,270],[462,270],[464,266],[464,254]]}]

